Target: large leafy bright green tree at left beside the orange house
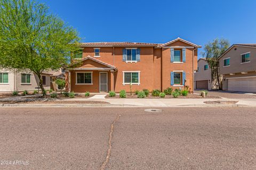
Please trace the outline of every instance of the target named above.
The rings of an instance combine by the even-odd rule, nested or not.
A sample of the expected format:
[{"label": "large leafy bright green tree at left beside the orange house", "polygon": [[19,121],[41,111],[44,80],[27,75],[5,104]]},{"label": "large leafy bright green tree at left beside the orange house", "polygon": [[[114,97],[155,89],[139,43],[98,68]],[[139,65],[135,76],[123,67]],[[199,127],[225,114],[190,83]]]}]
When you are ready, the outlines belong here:
[{"label": "large leafy bright green tree at left beside the orange house", "polygon": [[0,0],[0,67],[29,69],[39,78],[70,61],[78,50],[77,31],[35,0]]}]

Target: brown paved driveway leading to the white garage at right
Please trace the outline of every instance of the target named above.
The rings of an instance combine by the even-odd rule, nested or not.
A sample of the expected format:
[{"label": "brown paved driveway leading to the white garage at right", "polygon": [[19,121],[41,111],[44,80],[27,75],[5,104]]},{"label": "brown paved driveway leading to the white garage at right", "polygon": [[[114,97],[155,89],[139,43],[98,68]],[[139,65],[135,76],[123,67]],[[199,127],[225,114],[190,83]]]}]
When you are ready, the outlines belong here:
[{"label": "brown paved driveway leading to the white garage at right", "polygon": [[[201,94],[201,91],[195,91],[195,93]],[[227,99],[256,99],[256,93],[249,92],[208,91],[208,95]]]}]

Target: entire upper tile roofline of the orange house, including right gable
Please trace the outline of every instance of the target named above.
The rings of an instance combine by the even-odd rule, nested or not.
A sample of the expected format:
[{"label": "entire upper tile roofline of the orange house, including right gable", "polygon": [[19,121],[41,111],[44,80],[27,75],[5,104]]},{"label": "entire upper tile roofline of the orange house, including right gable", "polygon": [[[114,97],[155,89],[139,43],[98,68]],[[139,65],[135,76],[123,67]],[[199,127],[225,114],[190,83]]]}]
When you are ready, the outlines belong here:
[{"label": "entire upper tile roofline of the orange house, including right gable", "polygon": [[195,47],[201,47],[200,45],[196,45],[194,43],[191,43],[189,41],[186,41],[185,39],[182,39],[180,37],[173,39],[170,42],[159,44],[159,43],[134,43],[134,42],[95,42],[95,43],[80,43],[81,47],[114,47],[114,46],[151,46],[156,48],[161,48],[165,45],[181,41],[184,43],[187,43],[189,45],[195,46]]}]

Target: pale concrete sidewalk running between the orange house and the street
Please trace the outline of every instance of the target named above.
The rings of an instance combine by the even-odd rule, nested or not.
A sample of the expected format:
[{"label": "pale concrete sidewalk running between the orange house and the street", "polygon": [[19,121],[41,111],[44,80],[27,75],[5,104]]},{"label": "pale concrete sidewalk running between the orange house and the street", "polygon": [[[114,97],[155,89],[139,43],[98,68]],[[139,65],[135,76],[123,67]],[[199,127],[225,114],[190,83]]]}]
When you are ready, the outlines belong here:
[{"label": "pale concrete sidewalk running between the orange house and the street", "polygon": [[[256,99],[84,99],[59,101],[105,101],[109,104],[0,104],[2,107],[256,107]],[[206,104],[205,101],[238,101],[236,104]]]}]

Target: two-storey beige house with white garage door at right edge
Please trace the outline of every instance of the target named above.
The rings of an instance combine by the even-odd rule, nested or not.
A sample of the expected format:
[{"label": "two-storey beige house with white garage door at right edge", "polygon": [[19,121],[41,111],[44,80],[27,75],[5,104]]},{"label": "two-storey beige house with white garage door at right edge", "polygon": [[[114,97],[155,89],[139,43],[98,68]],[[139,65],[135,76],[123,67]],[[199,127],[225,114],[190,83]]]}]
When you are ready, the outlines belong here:
[{"label": "two-storey beige house with white garage door at right edge", "polygon": [[219,62],[223,90],[256,92],[256,44],[234,44]]}]

